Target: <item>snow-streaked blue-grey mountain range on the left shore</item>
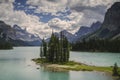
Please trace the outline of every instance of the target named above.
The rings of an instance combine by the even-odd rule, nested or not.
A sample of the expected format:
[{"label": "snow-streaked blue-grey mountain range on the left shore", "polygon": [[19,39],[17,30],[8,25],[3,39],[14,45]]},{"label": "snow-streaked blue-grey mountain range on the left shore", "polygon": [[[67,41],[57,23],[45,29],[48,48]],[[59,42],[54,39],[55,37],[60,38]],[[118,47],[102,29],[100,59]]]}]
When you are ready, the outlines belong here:
[{"label": "snow-streaked blue-grey mountain range on the left shore", "polygon": [[38,36],[28,33],[17,25],[11,27],[3,21],[0,21],[0,41],[8,41],[14,46],[38,46],[41,43]]}]

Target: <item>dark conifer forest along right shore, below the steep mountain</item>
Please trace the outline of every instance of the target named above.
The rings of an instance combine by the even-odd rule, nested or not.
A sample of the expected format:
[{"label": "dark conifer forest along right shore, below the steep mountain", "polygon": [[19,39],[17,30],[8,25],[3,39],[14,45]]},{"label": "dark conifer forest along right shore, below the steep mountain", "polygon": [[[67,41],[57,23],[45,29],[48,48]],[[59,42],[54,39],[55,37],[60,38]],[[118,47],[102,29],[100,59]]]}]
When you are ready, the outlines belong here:
[{"label": "dark conifer forest along right shore, below the steep mountain", "polygon": [[120,52],[120,40],[83,40],[72,44],[73,51]]}]

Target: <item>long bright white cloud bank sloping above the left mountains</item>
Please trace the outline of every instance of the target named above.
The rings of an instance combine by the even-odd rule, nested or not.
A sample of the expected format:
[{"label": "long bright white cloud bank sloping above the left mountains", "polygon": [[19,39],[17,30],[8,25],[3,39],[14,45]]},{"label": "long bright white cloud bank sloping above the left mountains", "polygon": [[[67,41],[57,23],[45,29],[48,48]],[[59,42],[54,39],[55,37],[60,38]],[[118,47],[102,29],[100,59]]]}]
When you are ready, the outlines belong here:
[{"label": "long bright white cloud bank sloping above the left mountains", "polygon": [[[6,2],[7,1],[7,2]],[[8,2],[0,3],[0,20],[5,21],[7,24],[13,26],[14,24],[19,25],[23,29],[26,28],[28,32],[37,34],[40,37],[50,35],[50,27],[47,23],[40,22],[39,17],[35,15],[26,14],[24,11],[14,11],[12,0]]]}]

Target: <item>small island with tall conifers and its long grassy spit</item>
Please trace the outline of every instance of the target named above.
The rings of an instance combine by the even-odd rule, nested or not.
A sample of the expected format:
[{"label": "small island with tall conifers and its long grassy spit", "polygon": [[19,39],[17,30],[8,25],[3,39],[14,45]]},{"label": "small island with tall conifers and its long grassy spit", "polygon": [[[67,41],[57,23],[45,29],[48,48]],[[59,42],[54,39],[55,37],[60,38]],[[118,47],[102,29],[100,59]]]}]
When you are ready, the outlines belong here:
[{"label": "small island with tall conifers and its long grassy spit", "polygon": [[120,67],[117,67],[117,64],[102,67],[69,61],[70,44],[63,34],[61,33],[60,38],[58,38],[52,33],[48,43],[43,39],[40,47],[40,58],[32,59],[32,61],[50,71],[100,71],[119,76]]}]

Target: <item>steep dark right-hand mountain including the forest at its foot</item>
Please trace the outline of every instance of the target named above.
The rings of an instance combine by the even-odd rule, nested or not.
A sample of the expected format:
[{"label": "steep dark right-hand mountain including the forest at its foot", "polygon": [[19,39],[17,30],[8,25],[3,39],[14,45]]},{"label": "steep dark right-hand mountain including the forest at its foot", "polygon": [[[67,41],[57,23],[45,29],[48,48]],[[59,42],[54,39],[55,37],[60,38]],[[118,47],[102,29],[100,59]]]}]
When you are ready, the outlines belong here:
[{"label": "steep dark right-hand mountain including the forest at its foot", "polygon": [[77,41],[72,50],[120,53],[120,2],[107,10],[100,29]]}]

